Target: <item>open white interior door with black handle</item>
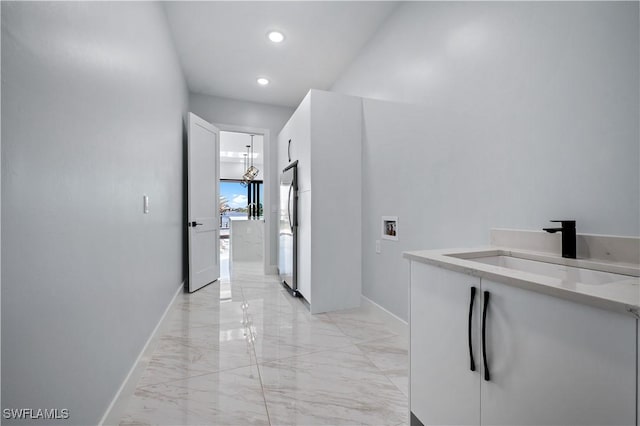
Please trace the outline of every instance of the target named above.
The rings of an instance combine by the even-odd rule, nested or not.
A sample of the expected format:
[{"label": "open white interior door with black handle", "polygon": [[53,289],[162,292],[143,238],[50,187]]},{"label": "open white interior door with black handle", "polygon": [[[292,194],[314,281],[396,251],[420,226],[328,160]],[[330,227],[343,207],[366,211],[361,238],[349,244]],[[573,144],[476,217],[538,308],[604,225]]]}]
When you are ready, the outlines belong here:
[{"label": "open white interior door with black handle", "polygon": [[187,136],[189,292],[193,292],[220,277],[220,133],[189,113]]}]

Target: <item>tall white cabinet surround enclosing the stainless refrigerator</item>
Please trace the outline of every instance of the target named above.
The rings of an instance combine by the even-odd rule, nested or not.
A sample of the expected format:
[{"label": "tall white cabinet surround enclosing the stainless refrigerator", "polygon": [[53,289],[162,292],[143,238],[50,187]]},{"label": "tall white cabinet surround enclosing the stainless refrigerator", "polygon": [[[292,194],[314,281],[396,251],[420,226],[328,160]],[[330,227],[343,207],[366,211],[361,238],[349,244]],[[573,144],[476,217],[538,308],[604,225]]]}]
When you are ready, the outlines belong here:
[{"label": "tall white cabinet surround enclosing the stainless refrigerator", "polygon": [[360,98],[311,90],[278,136],[279,171],[298,160],[298,285],[312,313],[360,304],[361,124]]}]

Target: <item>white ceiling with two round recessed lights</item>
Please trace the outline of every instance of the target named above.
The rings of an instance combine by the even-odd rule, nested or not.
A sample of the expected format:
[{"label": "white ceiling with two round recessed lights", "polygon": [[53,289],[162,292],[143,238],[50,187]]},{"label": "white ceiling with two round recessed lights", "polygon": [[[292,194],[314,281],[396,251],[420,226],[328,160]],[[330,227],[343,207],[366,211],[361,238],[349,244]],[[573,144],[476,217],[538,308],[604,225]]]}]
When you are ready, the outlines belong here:
[{"label": "white ceiling with two round recessed lights", "polygon": [[[329,89],[396,2],[166,2],[192,92],[295,107]],[[270,30],[285,40],[268,40]],[[258,77],[271,83],[259,86]]]}]

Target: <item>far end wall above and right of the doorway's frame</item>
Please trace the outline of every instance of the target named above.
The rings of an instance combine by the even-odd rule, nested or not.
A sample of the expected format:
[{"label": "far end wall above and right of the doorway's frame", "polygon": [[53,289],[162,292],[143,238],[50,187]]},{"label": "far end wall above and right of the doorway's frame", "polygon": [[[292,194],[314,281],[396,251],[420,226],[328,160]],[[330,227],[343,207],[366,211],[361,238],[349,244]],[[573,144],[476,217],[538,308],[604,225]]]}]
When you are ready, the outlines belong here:
[{"label": "far end wall above and right of the doorway's frame", "polygon": [[[236,126],[255,127],[268,129],[270,133],[270,141],[265,139],[265,162],[270,167],[268,170],[271,176],[269,187],[265,187],[265,197],[272,198],[274,202],[272,207],[277,207],[275,200],[277,199],[278,176],[280,171],[277,170],[277,135],[282,126],[287,122],[294,109],[276,105],[261,104],[256,102],[239,101],[235,99],[221,98],[217,96],[209,96],[200,93],[189,94],[189,110],[211,123],[230,124]],[[266,146],[271,144],[271,146]],[[267,157],[268,155],[268,157]],[[265,168],[266,170],[267,168]],[[272,197],[272,194],[273,197]],[[270,259],[269,265],[275,268],[278,264],[277,249],[277,231],[278,224],[276,220],[270,220],[271,212],[265,212],[265,219],[269,220],[268,231],[270,238]],[[275,217],[275,215],[273,216]]]}]

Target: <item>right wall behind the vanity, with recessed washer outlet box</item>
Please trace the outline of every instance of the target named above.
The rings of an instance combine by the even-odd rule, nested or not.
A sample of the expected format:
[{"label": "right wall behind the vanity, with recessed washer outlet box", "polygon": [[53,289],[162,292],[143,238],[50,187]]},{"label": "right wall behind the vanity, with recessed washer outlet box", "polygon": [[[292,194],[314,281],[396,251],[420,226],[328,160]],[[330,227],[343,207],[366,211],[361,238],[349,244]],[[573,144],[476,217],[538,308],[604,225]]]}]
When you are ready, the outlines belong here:
[{"label": "right wall behind the vanity, with recessed washer outlet box", "polygon": [[406,319],[401,252],[491,227],[639,235],[639,50],[637,2],[399,7],[333,87],[421,104],[364,102],[363,293]]}]

